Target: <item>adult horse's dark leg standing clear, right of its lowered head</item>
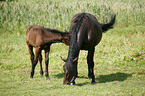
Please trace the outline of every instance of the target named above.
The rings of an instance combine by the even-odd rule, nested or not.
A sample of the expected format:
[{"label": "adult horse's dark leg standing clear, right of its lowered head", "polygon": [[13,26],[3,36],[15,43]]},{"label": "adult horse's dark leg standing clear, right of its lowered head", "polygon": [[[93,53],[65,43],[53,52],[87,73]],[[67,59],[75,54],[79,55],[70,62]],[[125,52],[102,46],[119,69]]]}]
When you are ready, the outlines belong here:
[{"label": "adult horse's dark leg standing clear, right of its lowered head", "polygon": [[94,51],[95,48],[91,48],[88,50],[88,56],[87,56],[87,63],[88,63],[88,77],[92,80],[92,83],[95,83],[95,76],[94,76]]}]

